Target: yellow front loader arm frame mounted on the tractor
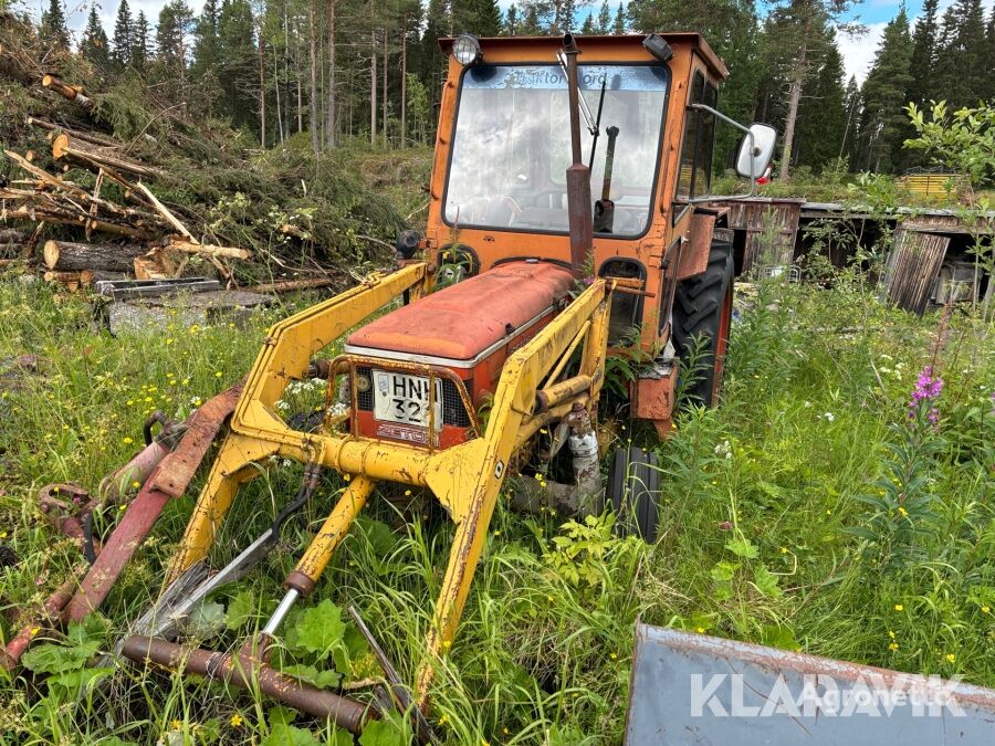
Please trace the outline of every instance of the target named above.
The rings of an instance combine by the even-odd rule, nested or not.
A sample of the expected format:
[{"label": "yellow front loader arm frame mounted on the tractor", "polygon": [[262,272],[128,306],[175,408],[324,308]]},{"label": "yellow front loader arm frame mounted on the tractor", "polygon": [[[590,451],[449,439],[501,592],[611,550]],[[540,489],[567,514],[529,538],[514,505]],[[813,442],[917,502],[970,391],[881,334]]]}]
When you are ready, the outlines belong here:
[{"label": "yellow front loader arm frame mounted on the tractor", "polygon": [[[239,486],[259,473],[258,462],[262,459],[277,454],[348,475],[348,487],[286,578],[287,596],[264,630],[264,634],[272,634],[295,599],[314,589],[377,482],[428,488],[455,523],[455,535],[426,640],[427,654],[418,672],[417,695],[422,706],[427,704],[436,661],[455,634],[515,451],[544,424],[572,411],[590,411],[596,407],[604,381],[614,287],[614,281],[594,282],[511,355],[502,368],[486,430],[462,444],[439,450],[431,439],[428,444],[392,442],[359,435],[355,429],[343,433],[304,433],[284,423],[275,403],[292,380],[305,376],[313,355],[400,293],[423,293],[430,282],[427,265],[413,263],[390,275],[374,277],[271,329],[170,571],[176,578],[206,556]],[[579,368],[564,377],[567,361],[577,350]],[[332,364],[333,376],[349,375],[344,371],[357,361],[353,357],[356,356],[336,358]],[[417,374],[438,375],[428,366],[411,364],[411,367]],[[352,375],[355,380],[355,372]],[[329,376],[329,389],[332,383]],[[126,654],[155,660],[149,652],[155,645],[148,639],[133,640],[133,644],[125,647]],[[261,666],[261,670],[266,668]],[[295,687],[298,690],[301,686]]]}]

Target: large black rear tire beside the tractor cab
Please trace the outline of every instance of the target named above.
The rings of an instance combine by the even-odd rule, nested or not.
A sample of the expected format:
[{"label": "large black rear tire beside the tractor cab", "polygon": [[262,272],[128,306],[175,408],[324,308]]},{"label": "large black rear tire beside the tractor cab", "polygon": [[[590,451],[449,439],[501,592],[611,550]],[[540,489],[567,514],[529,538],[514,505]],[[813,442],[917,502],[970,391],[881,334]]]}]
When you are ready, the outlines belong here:
[{"label": "large black rear tire beside the tractor cab", "polygon": [[[682,375],[694,380],[685,392],[695,402],[714,407],[719,402],[725,367],[725,350],[732,324],[733,249],[727,241],[715,241],[709,250],[705,271],[689,277],[677,287],[673,301],[673,346],[682,361]],[[694,337],[704,336],[708,344],[691,370],[690,356]]]}]

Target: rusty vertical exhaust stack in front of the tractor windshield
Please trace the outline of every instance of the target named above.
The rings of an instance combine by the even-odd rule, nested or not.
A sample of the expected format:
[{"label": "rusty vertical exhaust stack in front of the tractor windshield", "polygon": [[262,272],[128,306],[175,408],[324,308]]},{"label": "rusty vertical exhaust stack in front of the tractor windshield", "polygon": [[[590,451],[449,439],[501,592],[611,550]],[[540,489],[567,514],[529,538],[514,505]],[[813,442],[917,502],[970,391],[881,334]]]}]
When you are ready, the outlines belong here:
[{"label": "rusty vertical exhaust stack in front of the tractor windshield", "polygon": [[590,256],[594,241],[590,212],[590,169],[580,155],[580,86],[577,82],[577,42],[574,34],[563,34],[566,59],[567,91],[570,106],[570,148],[573,162],[566,170],[567,216],[570,230],[570,269],[580,276]]}]

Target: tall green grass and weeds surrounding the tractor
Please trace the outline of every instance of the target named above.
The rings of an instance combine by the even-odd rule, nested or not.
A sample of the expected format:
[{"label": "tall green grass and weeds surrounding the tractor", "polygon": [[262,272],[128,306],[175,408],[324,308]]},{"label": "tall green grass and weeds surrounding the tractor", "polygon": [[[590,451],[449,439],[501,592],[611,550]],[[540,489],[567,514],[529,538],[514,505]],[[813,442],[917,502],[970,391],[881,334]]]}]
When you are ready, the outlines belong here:
[{"label": "tall green grass and weeds surrounding the tractor", "polygon": [[[245,328],[112,338],[92,327],[84,298],[0,280],[0,542],[19,557],[0,570],[4,639],[80,566],[77,547],[39,514],[38,490],[94,488],[137,448],[151,409],[184,417],[235,382],[266,326],[292,311]],[[939,314],[886,308],[847,273],[820,292],[760,286],[734,328],[723,406],[685,409],[673,437],[654,444],[664,482],[656,545],[616,538],[609,516],[565,527],[563,516],[499,505],[437,675],[438,732],[453,744],[618,743],[637,617],[995,686],[993,333],[961,311],[941,328]],[[40,371],[11,372],[10,358],[27,353]],[[929,365],[944,380],[926,402],[939,409],[935,428],[928,408],[908,414]],[[650,442],[642,428],[608,425]],[[240,493],[216,567],[296,491],[300,467],[273,466]],[[279,550],[206,605],[196,631],[207,644],[231,647],[264,623],[342,486],[324,479]],[[451,526],[430,501],[395,507],[402,488],[380,495],[392,501],[373,501],[287,620],[279,662],[298,675],[336,671],[348,684],[374,672],[344,621],[353,603],[413,679]],[[0,674],[0,743],[349,743],[249,693],[84,668],[158,595],[191,507],[190,497],[168,506],[100,617],[69,635],[40,634],[33,671]],[[119,515],[111,506],[98,527]],[[87,686],[94,677],[102,686]],[[360,743],[399,743],[390,728]]]}]

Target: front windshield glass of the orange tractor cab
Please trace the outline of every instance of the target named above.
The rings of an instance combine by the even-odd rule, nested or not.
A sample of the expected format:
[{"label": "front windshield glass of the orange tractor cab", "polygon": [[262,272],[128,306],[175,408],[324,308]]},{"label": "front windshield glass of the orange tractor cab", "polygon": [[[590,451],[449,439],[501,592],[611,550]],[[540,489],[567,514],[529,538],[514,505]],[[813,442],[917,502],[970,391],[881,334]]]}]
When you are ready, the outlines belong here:
[{"label": "front windshield glass of the orange tractor cab", "polygon": [[[578,72],[591,118],[600,113],[593,161],[595,138],[580,118],[582,153],[591,166],[593,213],[599,214],[599,200],[614,203],[610,219],[596,218],[596,232],[641,235],[650,220],[667,69],[580,65]],[[562,67],[476,65],[465,72],[446,191],[447,223],[566,233],[569,165]]]}]

